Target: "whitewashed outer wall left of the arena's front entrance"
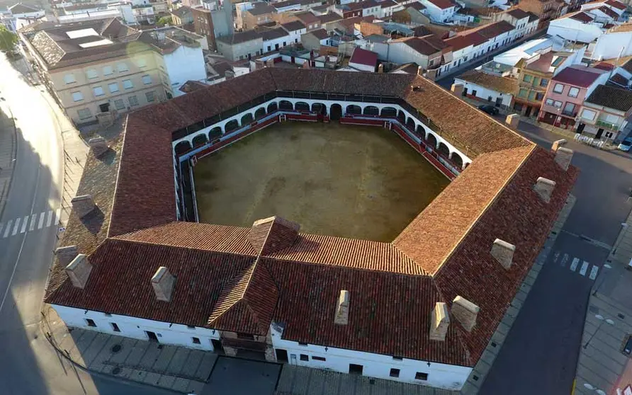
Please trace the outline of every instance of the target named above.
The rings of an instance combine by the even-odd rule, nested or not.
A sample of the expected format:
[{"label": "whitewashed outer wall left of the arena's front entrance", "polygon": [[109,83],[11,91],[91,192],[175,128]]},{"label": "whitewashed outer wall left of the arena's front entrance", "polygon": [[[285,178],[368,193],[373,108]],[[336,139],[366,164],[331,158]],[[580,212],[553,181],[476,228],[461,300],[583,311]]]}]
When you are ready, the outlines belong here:
[{"label": "whitewashed outer wall left of the arena's front entrance", "polygon": [[[169,322],[152,321],[150,319],[140,319],[131,316],[120,316],[111,314],[106,316],[100,311],[75,309],[52,304],[60,318],[66,326],[89,329],[103,333],[110,333],[116,336],[125,336],[140,340],[149,340],[145,331],[156,333],[159,343],[184,345],[189,348],[213,351],[213,344],[210,340],[219,340],[220,332],[208,328],[188,328],[186,325],[172,324]],[[86,319],[91,319],[96,327],[88,326]],[[115,323],[120,332],[115,332],[111,323]],[[193,337],[200,339],[200,344],[193,343]]]}]

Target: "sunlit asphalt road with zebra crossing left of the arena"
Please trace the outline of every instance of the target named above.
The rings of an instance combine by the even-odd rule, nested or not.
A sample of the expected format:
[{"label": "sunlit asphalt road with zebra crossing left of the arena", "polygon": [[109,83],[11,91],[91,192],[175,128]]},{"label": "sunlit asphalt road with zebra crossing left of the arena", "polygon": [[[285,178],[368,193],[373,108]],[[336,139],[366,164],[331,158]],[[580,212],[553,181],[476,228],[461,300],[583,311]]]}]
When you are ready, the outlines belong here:
[{"label": "sunlit asphalt road with zebra crossing left of the arena", "polygon": [[18,142],[0,217],[0,393],[174,394],[74,370],[42,336],[62,190],[60,132],[71,126],[43,88],[30,86],[1,54],[0,76],[0,108],[15,118]]}]

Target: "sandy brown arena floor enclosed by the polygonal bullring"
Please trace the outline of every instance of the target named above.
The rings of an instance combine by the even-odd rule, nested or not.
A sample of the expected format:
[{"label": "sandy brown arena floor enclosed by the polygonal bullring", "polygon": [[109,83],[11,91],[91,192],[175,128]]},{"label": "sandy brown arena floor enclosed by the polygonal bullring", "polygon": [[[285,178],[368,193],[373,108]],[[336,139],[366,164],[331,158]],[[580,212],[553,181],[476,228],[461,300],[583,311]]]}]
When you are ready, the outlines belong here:
[{"label": "sandy brown arena floor enclosed by the polygonal bullring", "polygon": [[448,180],[380,127],[286,122],[201,159],[201,222],[249,227],[278,215],[305,233],[395,236]]}]

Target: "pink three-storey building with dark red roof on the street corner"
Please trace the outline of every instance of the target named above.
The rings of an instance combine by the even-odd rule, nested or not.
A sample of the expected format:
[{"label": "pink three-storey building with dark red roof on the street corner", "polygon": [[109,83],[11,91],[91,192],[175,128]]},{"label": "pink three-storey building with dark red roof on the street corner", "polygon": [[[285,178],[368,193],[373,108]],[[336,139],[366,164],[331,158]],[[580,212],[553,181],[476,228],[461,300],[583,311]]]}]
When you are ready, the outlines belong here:
[{"label": "pink three-storey building with dark red roof on the street corner", "polygon": [[574,65],[551,79],[538,115],[540,122],[572,129],[577,112],[594,88],[608,81],[610,71]]}]

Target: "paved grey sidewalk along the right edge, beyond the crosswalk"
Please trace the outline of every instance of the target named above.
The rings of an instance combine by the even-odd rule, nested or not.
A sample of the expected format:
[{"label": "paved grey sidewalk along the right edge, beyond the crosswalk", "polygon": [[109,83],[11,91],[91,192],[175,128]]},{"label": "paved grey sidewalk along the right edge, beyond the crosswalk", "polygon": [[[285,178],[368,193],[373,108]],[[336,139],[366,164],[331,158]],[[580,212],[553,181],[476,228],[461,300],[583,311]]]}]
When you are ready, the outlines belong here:
[{"label": "paved grey sidewalk along the right edge, beyond the crosswalk", "polygon": [[[632,385],[632,212],[589,297],[575,377],[575,395],[616,394]],[[609,268],[608,268],[609,267]],[[601,391],[601,392],[600,392]]]}]

